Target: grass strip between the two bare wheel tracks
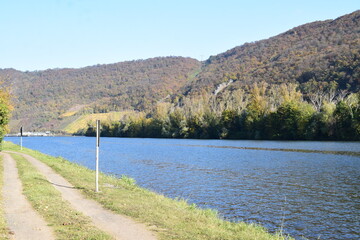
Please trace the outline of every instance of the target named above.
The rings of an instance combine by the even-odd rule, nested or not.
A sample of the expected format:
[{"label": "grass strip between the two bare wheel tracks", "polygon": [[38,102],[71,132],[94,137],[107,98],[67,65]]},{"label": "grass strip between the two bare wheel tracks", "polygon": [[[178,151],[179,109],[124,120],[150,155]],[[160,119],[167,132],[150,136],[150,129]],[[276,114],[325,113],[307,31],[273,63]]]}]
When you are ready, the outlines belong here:
[{"label": "grass strip between the two bare wheel tracks", "polygon": [[74,210],[24,157],[11,154],[17,162],[23,192],[34,209],[54,229],[57,239],[112,239],[92,225],[90,218]]}]

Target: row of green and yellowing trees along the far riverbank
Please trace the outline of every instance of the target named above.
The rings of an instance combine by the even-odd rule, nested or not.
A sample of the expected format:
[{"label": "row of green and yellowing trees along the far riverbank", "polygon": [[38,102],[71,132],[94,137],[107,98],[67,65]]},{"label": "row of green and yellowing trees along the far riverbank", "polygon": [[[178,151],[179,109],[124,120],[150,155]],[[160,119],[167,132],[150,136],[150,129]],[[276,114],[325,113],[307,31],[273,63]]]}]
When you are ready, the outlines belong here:
[{"label": "row of green and yellowing trees along the far riverbank", "polygon": [[[94,136],[91,124],[77,134]],[[360,140],[360,94],[308,82],[177,96],[148,112],[103,122],[102,136],[263,140]]]}]

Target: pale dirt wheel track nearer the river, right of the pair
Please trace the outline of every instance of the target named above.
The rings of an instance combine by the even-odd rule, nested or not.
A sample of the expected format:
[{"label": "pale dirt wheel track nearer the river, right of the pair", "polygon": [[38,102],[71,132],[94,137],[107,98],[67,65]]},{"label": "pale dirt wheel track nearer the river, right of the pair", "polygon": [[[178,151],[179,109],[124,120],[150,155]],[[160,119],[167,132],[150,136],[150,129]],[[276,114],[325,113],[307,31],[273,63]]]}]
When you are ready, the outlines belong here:
[{"label": "pale dirt wheel track nearer the river, right of the pair", "polygon": [[27,155],[24,156],[59,190],[62,197],[69,201],[78,211],[89,216],[94,225],[116,239],[123,240],[155,240],[155,235],[146,226],[134,220],[104,209],[99,203],[86,199],[66,179],[55,173],[49,166]]}]

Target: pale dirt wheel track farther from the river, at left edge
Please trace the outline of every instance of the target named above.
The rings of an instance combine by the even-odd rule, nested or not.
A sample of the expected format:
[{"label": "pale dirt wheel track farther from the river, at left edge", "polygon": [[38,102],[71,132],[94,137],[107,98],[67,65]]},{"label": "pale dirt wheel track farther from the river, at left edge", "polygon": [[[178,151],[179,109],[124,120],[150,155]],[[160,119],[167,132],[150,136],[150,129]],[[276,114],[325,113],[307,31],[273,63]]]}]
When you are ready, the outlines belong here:
[{"label": "pale dirt wheel track farther from the river, at left edge", "polygon": [[5,218],[13,239],[54,239],[52,230],[44,219],[32,208],[22,194],[22,184],[18,176],[16,162],[9,154],[4,156],[4,199]]}]

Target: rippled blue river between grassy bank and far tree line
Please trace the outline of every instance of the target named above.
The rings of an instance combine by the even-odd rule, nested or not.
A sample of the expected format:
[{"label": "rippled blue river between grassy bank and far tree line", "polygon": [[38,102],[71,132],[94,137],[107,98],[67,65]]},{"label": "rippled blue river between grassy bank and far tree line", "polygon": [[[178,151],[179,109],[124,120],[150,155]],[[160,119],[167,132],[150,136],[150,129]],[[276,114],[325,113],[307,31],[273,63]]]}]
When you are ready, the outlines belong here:
[{"label": "rippled blue river between grassy bank and far tree line", "polygon": [[[91,169],[95,142],[23,138],[25,147]],[[359,153],[360,142],[101,138],[100,170],[216,209],[227,220],[260,223],[271,232],[284,229],[297,239],[359,239],[360,157],[316,151]]]}]

